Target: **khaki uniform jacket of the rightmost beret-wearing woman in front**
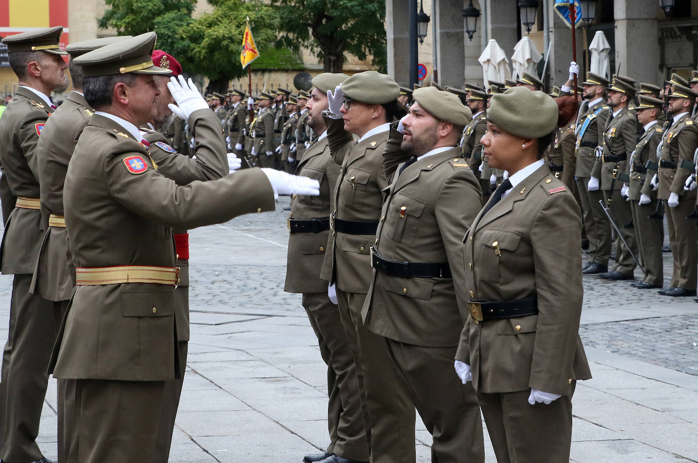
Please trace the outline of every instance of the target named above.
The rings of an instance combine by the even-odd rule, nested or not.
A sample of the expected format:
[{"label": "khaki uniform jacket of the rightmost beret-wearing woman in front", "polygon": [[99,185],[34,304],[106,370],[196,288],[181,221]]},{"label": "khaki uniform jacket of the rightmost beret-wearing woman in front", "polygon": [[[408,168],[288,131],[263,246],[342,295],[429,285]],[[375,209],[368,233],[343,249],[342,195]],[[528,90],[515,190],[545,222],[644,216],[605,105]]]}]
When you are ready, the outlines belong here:
[{"label": "khaki uniform jacket of the rightmost beret-wearing woman in front", "polygon": [[[480,211],[464,239],[472,271],[455,284],[466,320],[456,359],[470,365],[475,390],[572,395],[575,379],[591,378],[579,339],[581,218],[574,197],[543,165],[487,214]],[[535,315],[475,324],[468,311],[471,300],[534,296]]]}]

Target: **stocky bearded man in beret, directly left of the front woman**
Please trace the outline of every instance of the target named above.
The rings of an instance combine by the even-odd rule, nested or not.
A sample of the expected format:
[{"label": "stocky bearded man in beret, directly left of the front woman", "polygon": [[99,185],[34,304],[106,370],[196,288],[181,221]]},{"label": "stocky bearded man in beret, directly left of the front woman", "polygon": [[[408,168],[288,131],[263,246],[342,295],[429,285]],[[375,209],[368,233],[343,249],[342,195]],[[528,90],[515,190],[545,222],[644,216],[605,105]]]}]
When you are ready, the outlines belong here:
[{"label": "stocky bearded man in beret, directly left of the front woman", "polygon": [[458,146],[472,114],[453,93],[433,87],[413,97],[403,134],[385,148],[410,159],[383,201],[362,315],[369,331],[385,337],[433,436],[432,462],[482,463],[475,390],[453,374],[462,324],[452,273],[464,279],[463,235],[482,207],[480,185]]}]

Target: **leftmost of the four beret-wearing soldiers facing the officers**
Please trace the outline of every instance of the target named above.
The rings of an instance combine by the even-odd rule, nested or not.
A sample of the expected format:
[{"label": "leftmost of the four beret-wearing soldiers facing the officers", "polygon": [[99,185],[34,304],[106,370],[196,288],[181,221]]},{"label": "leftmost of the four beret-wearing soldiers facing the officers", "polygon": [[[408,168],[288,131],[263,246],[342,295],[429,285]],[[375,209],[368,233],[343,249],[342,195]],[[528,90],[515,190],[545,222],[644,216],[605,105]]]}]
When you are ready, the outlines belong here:
[{"label": "leftmost of the four beret-wearing soldiers facing the officers", "polygon": [[[334,204],[332,194],[339,176],[339,165],[329,154],[322,111],[327,109],[327,91],[334,90],[347,77],[332,73],[313,77],[314,88],[306,107],[310,114],[309,126],[320,136],[298,161],[297,172],[320,181],[320,196],[292,197],[288,218],[290,236],[284,290],[303,294],[303,307],[318,336],[322,360],[327,364],[330,444],[324,453],[306,455],[303,459],[306,463],[369,461],[354,357],[337,306],[327,296],[327,282],[320,280],[329,235],[329,213]],[[293,100],[295,97],[291,96],[289,101]]]}]

